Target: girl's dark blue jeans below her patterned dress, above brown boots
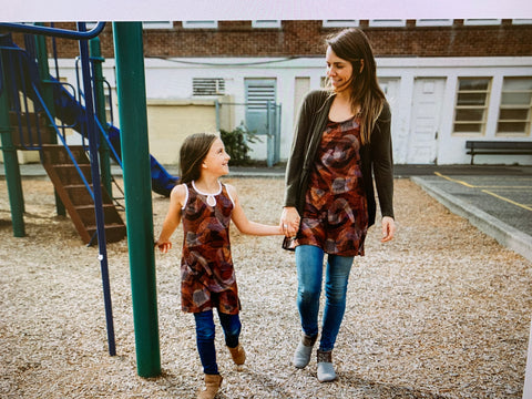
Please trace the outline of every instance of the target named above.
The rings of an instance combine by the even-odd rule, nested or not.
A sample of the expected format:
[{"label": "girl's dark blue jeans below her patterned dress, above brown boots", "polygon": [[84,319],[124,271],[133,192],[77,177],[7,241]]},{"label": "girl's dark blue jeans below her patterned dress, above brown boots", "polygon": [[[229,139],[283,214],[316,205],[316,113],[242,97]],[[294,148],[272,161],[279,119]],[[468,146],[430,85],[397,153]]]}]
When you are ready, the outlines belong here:
[{"label": "girl's dark blue jeans below her patterned dress, above brown boots", "polygon": [[[238,315],[226,315],[218,311],[219,324],[224,330],[225,345],[229,348],[238,346],[242,324]],[[202,360],[203,372],[208,375],[218,374],[216,364],[216,349],[214,347],[214,317],[213,310],[205,310],[194,314],[196,320],[196,345]]]}]

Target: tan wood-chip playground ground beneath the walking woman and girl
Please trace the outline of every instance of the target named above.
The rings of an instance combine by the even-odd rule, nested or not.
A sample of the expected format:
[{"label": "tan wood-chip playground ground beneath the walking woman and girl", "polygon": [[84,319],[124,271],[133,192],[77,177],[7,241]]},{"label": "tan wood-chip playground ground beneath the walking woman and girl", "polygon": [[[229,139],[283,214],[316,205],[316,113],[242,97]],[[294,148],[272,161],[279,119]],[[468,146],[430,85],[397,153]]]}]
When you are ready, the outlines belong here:
[{"label": "tan wood-chip playground ground beneath the walking woman and girl", "polygon": [[[276,224],[282,178],[231,178],[250,219]],[[14,238],[0,190],[0,397],[195,398],[202,385],[194,321],[180,310],[178,259],[155,254],[163,374],[136,375],[126,242],[108,246],[117,356],[108,355],[98,250],[54,215],[51,183],[24,180],[28,236]],[[153,196],[158,235],[168,201]],[[398,232],[371,228],[350,276],[335,349],[339,380],[316,360],[289,364],[299,337],[293,254],[280,237],[232,231],[243,303],[237,371],[217,330],[218,398],[521,398],[532,314],[531,263],[396,181]]]}]

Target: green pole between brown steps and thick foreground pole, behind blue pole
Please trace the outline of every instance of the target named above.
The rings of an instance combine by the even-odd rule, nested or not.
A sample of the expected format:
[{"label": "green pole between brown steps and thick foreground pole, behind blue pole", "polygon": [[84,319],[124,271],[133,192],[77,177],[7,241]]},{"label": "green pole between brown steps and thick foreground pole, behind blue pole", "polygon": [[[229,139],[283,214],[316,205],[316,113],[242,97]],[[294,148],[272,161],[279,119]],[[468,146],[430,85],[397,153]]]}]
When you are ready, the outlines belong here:
[{"label": "green pole between brown steps and thick foreground pole, behind blue pole", "polygon": [[[105,94],[103,90],[103,72],[102,63],[104,59],[102,58],[100,38],[94,38],[89,41],[91,49],[91,60],[94,65],[94,102],[96,106],[96,117],[100,121],[103,130],[102,134],[108,134],[108,116],[105,114]],[[111,162],[110,162],[109,144],[104,137],[100,139],[100,174],[102,175],[102,182],[108,191],[109,195],[112,197],[112,184],[111,184]]]}]

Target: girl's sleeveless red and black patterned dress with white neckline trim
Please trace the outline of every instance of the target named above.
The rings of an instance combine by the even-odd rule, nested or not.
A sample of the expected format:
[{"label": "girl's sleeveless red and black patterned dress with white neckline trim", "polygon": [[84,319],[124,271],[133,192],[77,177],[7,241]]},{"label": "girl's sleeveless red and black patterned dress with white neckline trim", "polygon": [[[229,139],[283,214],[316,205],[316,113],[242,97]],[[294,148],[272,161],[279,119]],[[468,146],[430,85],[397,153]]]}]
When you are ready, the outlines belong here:
[{"label": "girl's sleeveless red and black patterned dress with white neckline trim", "polygon": [[198,313],[217,308],[236,315],[241,306],[229,244],[233,200],[223,184],[213,195],[198,192],[194,182],[187,188],[182,209],[182,309]]}]

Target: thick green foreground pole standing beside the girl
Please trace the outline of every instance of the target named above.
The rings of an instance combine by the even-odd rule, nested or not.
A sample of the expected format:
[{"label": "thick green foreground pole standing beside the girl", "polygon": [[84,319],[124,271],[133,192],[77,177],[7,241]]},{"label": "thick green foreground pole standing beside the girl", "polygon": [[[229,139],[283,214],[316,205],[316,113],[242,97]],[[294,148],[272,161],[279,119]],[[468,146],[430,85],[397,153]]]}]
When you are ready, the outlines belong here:
[{"label": "thick green foreground pole standing beside the girl", "polygon": [[113,22],[137,372],[161,374],[141,22]]}]

